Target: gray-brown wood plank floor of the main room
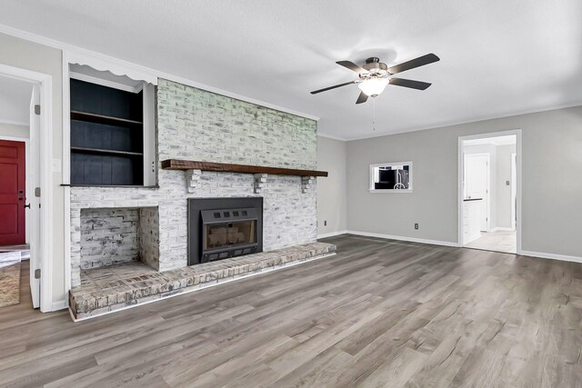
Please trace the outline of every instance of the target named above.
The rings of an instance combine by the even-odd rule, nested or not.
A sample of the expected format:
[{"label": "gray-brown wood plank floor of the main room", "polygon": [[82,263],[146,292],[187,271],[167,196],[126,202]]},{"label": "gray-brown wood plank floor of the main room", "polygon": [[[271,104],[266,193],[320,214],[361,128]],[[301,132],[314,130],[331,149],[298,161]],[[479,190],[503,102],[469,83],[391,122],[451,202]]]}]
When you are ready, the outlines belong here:
[{"label": "gray-brown wood plank floor of the main room", "polygon": [[0,382],[582,386],[582,264],[326,241],[336,257],[82,323],[24,294],[0,310]]}]

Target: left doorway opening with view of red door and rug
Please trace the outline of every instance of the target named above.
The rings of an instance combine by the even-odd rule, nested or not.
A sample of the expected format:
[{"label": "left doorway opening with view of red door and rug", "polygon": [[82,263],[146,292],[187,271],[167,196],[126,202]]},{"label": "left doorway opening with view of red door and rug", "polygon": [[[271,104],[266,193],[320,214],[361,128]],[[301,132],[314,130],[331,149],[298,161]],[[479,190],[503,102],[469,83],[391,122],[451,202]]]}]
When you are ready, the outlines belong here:
[{"label": "left doorway opening with view of red door and rug", "polygon": [[53,310],[51,94],[50,75],[0,65],[0,285],[16,295],[5,305],[28,289],[42,312]]}]

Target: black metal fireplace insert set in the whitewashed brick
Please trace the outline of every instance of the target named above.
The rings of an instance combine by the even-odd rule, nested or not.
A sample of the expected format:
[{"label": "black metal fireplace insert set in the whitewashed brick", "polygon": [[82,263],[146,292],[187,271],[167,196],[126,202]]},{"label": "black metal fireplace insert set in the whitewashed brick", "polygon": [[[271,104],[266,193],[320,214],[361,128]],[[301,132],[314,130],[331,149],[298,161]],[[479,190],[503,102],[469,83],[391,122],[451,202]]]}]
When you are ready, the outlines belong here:
[{"label": "black metal fireplace insert set in the whitewashed brick", "polygon": [[188,265],[263,251],[263,198],[188,199]]}]

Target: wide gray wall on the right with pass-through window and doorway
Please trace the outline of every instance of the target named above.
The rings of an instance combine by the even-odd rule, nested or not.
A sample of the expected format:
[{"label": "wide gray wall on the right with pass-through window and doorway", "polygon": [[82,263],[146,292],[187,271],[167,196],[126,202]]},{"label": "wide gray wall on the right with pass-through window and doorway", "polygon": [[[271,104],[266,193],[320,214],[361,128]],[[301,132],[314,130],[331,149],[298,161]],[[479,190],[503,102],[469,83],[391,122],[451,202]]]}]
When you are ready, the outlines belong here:
[{"label": "wide gray wall on the right with pass-through window and doorway", "polygon": [[[582,256],[582,106],[348,142],[347,228],[457,243],[458,137],[518,128],[522,248]],[[414,193],[368,193],[369,164],[409,160]]]}]

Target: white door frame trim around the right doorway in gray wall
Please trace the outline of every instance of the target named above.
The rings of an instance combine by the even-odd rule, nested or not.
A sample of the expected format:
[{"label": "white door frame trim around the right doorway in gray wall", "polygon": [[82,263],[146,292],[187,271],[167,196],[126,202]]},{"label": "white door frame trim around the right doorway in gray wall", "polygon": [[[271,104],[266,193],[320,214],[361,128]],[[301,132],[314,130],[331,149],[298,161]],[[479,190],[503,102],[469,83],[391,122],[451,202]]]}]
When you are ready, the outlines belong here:
[{"label": "white door frame trim around the right doorway in gray wall", "polygon": [[465,174],[465,160],[463,156],[463,143],[466,140],[486,139],[488,137],[516,135],[516,154],[517,154],[517,184],[516,184],[516,199],[517,199],[517,254],[522,254],[521,249],[521,204],[522,204],[522,151],[521,151],[521,129],[513,129],[508,131],[489,132],[485,134],[471,134],[458,137],[457,144],[457,244],[458,246],[465,246],[463,244],[463,177]]}]

